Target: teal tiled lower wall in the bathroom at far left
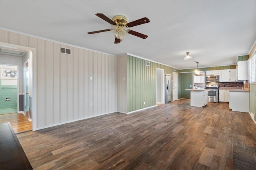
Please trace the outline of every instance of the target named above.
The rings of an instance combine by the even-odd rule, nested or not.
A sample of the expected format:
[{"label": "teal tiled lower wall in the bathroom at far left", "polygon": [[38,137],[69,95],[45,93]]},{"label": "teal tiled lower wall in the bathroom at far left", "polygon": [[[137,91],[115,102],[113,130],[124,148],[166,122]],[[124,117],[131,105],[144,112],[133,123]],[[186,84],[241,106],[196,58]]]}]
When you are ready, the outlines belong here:
[{"label": "teal tiled lower wall in the bathroom at far left", "polygon": [[[10,101],[6,101],[6,98],[10,98]],[[0,79],[0,109],[14,107],[17,107],[17,85],[2,85]]]}]

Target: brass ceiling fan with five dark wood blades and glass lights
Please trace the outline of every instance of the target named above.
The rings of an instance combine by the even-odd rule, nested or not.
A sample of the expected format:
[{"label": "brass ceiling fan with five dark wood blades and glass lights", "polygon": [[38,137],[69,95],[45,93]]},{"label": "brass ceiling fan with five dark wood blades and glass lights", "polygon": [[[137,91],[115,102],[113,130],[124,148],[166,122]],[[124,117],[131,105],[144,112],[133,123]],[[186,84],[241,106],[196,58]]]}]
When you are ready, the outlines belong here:
[{"label": "brass ceiling fan with five dark wood blades and glass lights", "polygon": [[144,35],[142,33],[138,33],[136,31],[132,31],[130,29],[124,29],[124,28],[130,28],[130,27],[134,27],[136,25],[141,25],[143,23],[150,22],[149,19],[146,17],[127,23],[127,18],[125,16],[114,16],[112,20],[110,20],[110,18],[108,18],[104,14],[97,13],[96,16],[98,16],[102,20],[105,20],[108,23],[114,25],[116,28],[92,31],[92,32],[88,32],[88,34],[101,33],[101,32],[105,32],[105,31],[115,30],[113,33],[113,35],[115,36],[115,44],[120,43],[122,41],[122,39],[124,39],[127,36],[127,33],[135,35],[135,36],[143,38],[143,39],[146,39],[148,37],[148,35]]}]

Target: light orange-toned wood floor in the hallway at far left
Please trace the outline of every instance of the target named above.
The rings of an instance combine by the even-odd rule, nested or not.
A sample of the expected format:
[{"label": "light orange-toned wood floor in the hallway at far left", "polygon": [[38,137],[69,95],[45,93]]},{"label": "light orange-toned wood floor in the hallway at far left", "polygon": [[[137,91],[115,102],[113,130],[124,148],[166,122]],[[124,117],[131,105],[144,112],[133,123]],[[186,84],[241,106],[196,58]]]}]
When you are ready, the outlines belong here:
[{"label": "light orange-toned wood floor in the hallway at far left", "polygon": [[15,133],[32,130],[32,123],[22,113],[10,113],[0,115],[0,123],[10,122]]}]

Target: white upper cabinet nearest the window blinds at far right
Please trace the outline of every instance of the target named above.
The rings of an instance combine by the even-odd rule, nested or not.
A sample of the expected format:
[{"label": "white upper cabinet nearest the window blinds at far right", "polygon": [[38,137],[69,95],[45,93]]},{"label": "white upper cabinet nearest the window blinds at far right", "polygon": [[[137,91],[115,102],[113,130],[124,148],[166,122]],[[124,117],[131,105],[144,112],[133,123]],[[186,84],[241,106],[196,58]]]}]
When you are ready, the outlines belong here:
[{"label": "white upper cabinet nearest the window blinds at far right", "polygon": [[238,61],[236,64],[236,79],[248,80],[248,63],[247,61]]}]

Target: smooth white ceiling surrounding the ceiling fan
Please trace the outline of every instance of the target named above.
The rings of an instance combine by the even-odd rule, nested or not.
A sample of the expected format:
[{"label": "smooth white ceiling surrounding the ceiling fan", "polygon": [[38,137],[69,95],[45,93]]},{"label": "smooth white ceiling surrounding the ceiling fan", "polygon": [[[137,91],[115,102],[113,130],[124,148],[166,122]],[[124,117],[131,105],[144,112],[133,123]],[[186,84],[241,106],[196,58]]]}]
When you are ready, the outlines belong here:
[{"label": "smooth white ceiling surrounding the ceiling fan", "polygon": [[[178,69],[236,64],[256,41],[256,0],[0,0],[0,27],[108,53],[129,53]],[[128,22],[150,23],[130,29],[148,35],[128,36],[114,44],[114,28],[96,13]],[[184,61],[186,52],[192,60]]]}]

